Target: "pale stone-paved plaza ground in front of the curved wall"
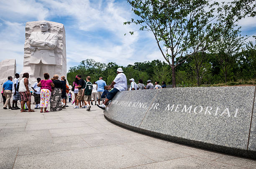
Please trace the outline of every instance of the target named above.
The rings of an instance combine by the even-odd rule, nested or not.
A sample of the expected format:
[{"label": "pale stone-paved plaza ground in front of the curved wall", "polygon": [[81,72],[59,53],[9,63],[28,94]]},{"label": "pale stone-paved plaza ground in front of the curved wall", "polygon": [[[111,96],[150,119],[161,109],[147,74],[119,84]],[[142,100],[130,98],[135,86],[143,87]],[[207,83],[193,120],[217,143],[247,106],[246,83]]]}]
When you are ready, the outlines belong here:
[{"label": "pale stone-paved plaza ground in front of the curved wall", "polygon": [[[119,127],[91,112],[21,113],[0,104],[0,169],[255,169],[256,161]],[[34,105],[32,105],[34,107]]]}]

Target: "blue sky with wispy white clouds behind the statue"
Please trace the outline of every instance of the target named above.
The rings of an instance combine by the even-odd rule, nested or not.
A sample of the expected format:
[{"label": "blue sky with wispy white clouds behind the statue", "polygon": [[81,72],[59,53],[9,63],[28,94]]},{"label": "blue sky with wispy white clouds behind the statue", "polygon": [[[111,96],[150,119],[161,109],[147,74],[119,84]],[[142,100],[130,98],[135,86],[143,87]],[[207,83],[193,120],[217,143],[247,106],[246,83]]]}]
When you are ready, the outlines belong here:
[{"label": "blue sky with wispy white clouds behind the statue", "polygon": [[[138,27],[123,22],[133,17],[125,0],[3,0],[0,2],[0,60],[15,58],[17,72],[21,72],[25,25],[36,20],[64,24],[67,70],[85,59],[122,66],[164,60],[151,32],[137,31],[129,35],[129,31]],[[256,35],[256,18],[244,19],[239,25],[242,35]]]}]

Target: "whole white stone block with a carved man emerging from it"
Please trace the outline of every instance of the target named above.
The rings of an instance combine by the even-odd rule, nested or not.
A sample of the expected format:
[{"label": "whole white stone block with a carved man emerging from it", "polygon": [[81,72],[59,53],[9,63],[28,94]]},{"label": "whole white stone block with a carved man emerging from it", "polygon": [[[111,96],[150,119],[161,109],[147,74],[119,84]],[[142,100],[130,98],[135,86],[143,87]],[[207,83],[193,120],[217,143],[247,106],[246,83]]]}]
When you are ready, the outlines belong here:
[{"label": "whole white stone block with a carved man emerging from it", "polygon": [[64,26],[49,21],[26,23],[24,46],[24,66],[21,74],[28,72],[29,81],[44,79],[44,73],[50,77],[57,74],[67,77],[66,42]]}]

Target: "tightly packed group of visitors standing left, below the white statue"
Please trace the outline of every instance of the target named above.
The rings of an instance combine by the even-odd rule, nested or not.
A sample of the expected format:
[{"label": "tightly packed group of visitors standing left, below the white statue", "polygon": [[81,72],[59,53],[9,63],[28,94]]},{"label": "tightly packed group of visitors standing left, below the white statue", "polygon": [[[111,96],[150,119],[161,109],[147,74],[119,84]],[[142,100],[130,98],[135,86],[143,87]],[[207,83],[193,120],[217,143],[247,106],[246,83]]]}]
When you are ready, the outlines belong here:
[{"label": "tightly packed group of visitors standing left, below the white statue", "polygon": [[[67,97],[69,87],[67,86],[67,80],[64,76],[61,76],[59,80],[58,75],[54,75],[50,80],[48,73],[44,73],[44,79],[37,78],[31,86],[29,82],[29,74],[24,73],[20,82],[18,82],[20,75],[15,74],[15,79],[9,76],[8,81],[3,84],[2,96],[4,102],[4,109],[17,110],[20,112],[34,112],[31,109],[31,96],[34,97],[35,109],[41,109],[40,112],[49,112],[47,107],[50,105],[50,111],[60,111],[67,107]],[[13,94],[13,105],[10,104],[10,99]],[[20,106],[17,103],[20,101]]]}]

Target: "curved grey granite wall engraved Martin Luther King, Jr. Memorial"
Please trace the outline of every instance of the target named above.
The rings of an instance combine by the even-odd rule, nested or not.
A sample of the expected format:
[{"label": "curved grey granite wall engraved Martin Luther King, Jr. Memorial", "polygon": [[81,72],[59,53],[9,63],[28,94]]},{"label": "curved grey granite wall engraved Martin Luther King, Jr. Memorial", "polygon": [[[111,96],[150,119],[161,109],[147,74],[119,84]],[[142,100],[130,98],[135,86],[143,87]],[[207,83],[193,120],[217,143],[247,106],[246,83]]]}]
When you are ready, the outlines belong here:
[{"label": "curved grey granite wall engraved Martin Luther King, Jr. Memorial", "polygon": [[124,91],[104,114],[143,134],[256,159],[255,91],[255,86]]}]

